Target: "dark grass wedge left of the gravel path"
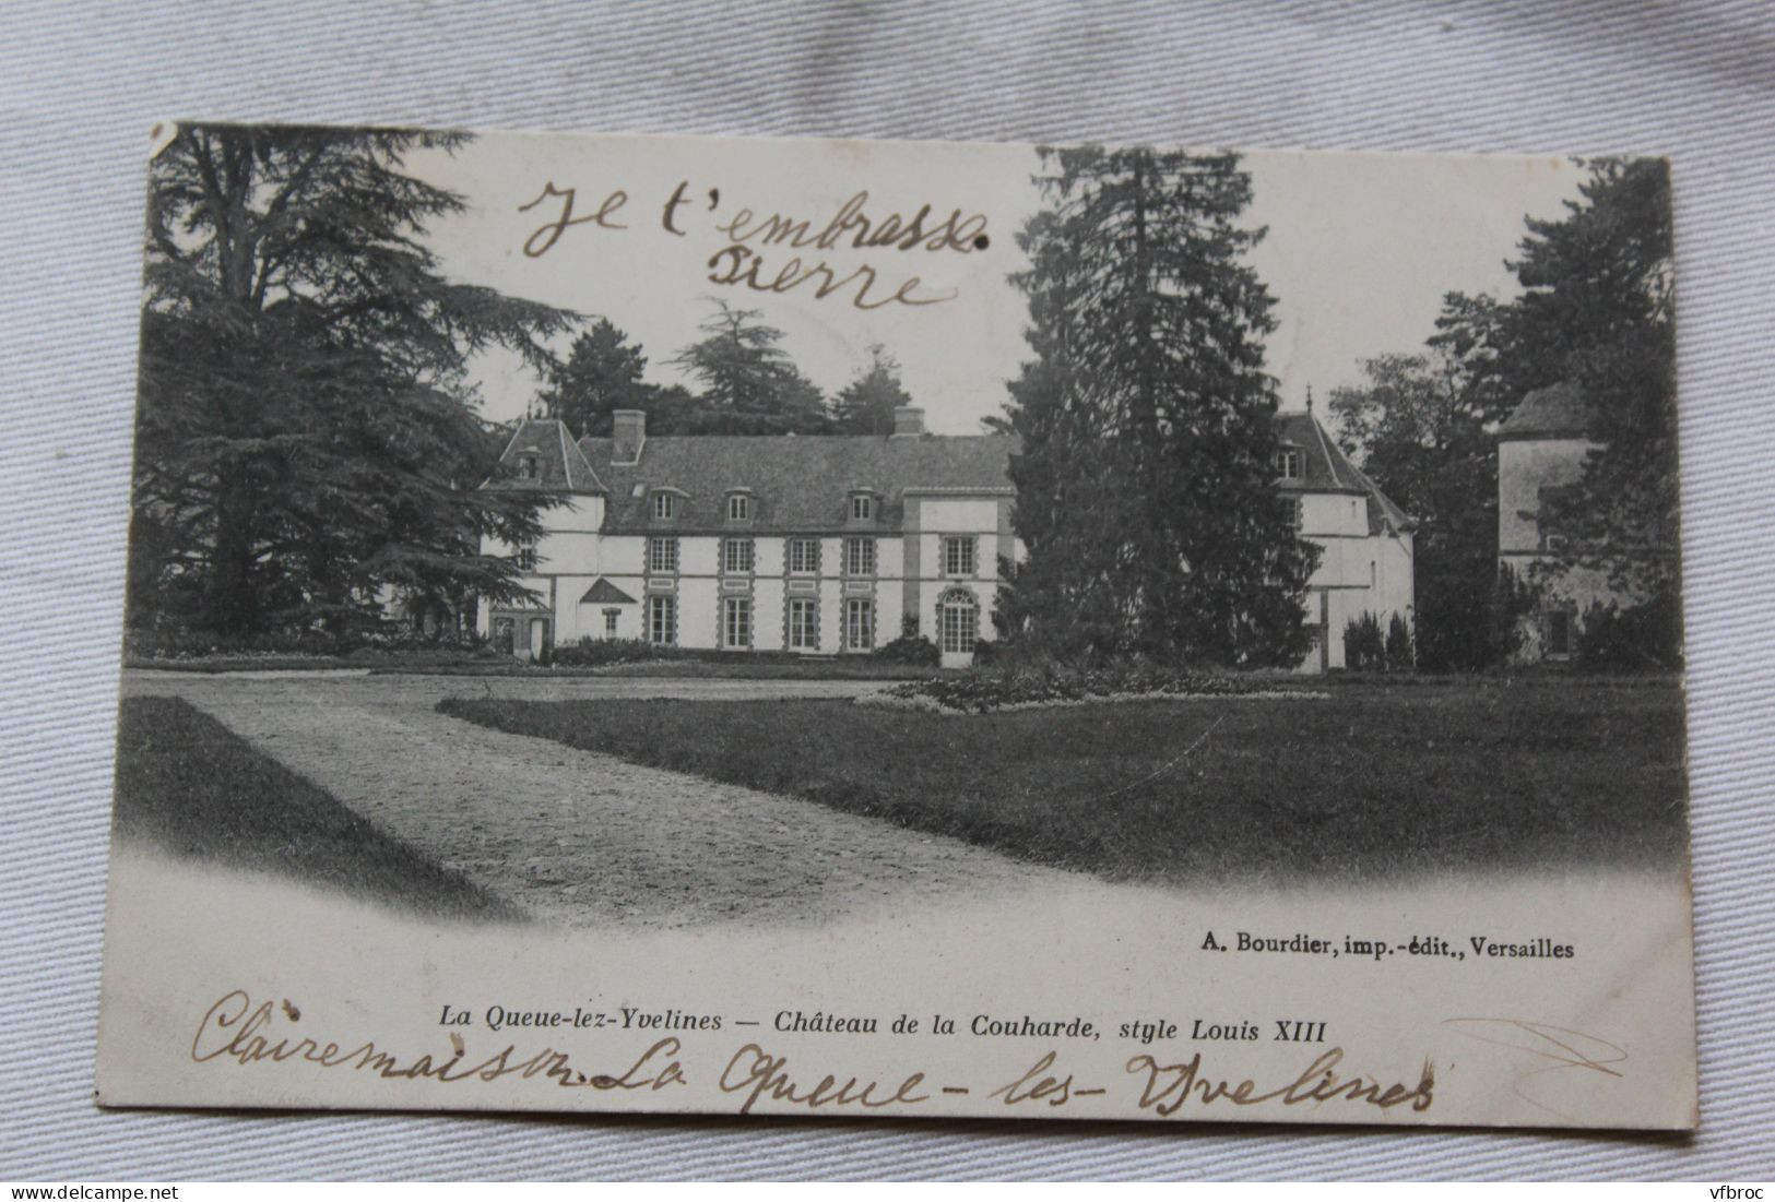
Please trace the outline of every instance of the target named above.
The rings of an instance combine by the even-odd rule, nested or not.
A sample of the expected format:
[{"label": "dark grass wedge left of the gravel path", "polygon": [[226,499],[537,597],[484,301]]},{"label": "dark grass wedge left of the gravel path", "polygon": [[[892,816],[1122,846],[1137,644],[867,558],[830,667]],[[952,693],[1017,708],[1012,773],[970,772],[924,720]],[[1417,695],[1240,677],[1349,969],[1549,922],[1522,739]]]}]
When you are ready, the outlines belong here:
[{"label": "dark grass wedge left of the gravel path", "polygon": [[124,699],[112,823],[179,856],[456,918],[522,918],[172,697]]}]

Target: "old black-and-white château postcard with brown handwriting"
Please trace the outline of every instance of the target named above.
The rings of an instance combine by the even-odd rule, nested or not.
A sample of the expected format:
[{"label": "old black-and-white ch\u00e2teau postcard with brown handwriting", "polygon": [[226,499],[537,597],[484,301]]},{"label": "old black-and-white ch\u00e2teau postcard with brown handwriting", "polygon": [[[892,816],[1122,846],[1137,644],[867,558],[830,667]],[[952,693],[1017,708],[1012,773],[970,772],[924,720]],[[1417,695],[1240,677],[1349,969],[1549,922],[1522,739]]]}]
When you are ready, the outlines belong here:
[{"label": "old black-and-white ch\u00e2teau postcard with brown handwriting", "polygon": [[1695,1126],[1670,211],[158,128],[99,1101]]}]

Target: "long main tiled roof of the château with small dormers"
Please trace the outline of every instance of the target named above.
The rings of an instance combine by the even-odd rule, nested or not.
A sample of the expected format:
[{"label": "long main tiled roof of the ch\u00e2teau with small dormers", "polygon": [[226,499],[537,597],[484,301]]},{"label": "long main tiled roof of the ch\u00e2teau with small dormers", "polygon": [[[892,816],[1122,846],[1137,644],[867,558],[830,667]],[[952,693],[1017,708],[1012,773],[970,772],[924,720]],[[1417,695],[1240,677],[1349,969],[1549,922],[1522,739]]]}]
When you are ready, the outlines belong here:
[{"label": "long main tiled roof of the ch\u00e2teau with small dormers", "polygon": [[[609,438],[584,438],[580,450],[609,486],[607,532],[898,530],[905,493],[1010,493],[1017,440],[980,436],[742,436],[648,438],[641,463],[611,464]],[[651,489],[680,493],[678,512],[655,519]],[[728,495],[749,491],[753,516],[728,521]],[[877,496],[875,518],[848,521],[856,489]]]}]

